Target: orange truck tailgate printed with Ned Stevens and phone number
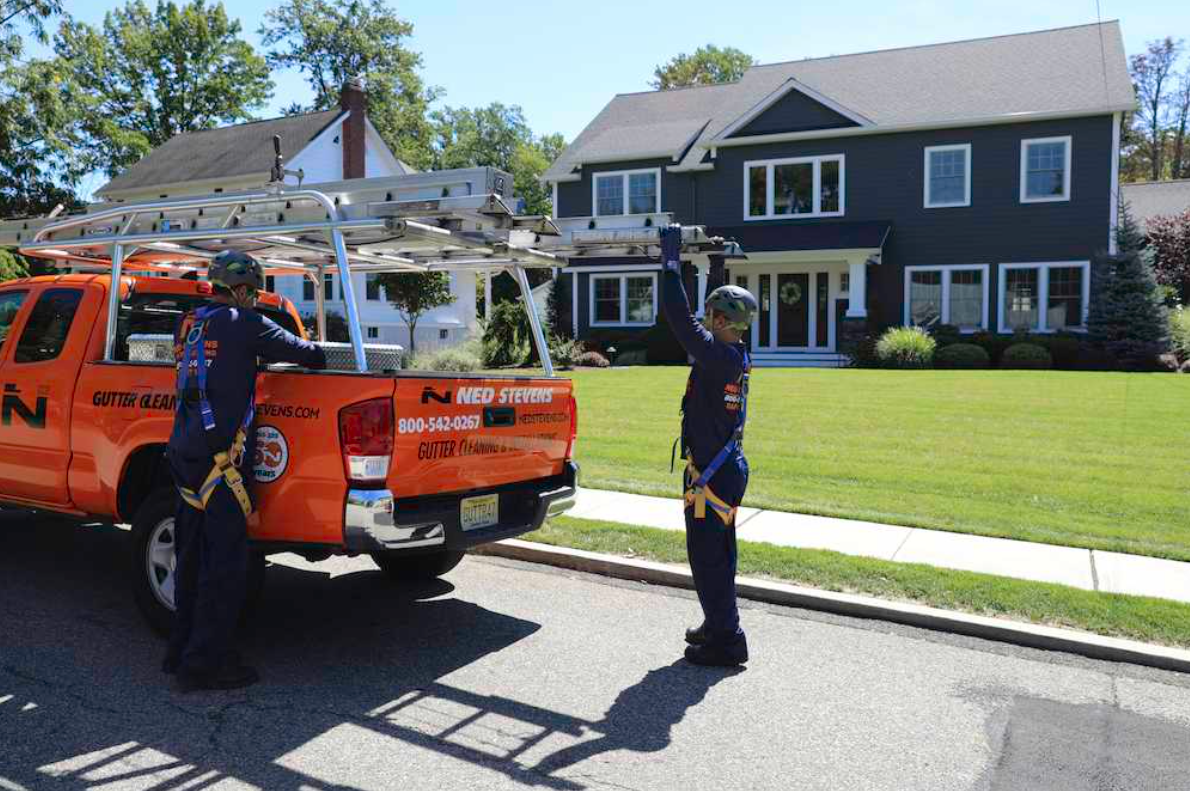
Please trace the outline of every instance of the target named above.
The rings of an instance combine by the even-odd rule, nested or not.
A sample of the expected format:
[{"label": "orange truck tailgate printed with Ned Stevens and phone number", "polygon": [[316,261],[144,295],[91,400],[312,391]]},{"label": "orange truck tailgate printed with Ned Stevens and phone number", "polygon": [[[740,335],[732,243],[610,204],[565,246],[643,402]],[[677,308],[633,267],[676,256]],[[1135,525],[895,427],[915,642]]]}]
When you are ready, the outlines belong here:
[{"label": "orange truck tailgate printed with Ned Stevens and phone number", "polygon": [[571,391],[569,379],[397,377],[389,489],[416,497],[559,475]]}]

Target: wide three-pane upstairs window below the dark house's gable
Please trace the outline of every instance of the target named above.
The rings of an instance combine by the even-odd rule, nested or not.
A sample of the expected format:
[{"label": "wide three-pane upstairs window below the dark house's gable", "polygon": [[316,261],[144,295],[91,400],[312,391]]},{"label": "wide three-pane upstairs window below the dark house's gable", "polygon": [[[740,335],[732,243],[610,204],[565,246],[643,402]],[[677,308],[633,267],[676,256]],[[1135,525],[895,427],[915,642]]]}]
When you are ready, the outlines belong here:
[{"label": "wide three-pane upstairs window below the dark house's gable", "polygon": [[744,219],[789,220],[843,216],[841,153],[744,163]]}]

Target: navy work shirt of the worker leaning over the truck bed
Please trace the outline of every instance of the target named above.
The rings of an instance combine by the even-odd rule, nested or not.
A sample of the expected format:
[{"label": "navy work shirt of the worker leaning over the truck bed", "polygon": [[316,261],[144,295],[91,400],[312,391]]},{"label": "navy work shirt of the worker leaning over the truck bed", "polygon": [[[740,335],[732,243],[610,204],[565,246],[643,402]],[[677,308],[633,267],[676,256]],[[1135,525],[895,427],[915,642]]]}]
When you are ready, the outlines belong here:
[{"label": "navy work shirt of the worker leaning over the truck bed", "polygon": [[[207,303],[205,307],[219,305],[221,303]],[[182,366],[186,335],[193,324],[194,313],[188,313],[174,334],[174,356],[178,370]],[[167,451],[177,483],[190,489],[201,485],[211,472],[214,463],[212,450],[231,447],[256,390],[257,358],[265,363],[326,368],[326,354],[321,349],[286,332],[252,309],[223,306],[223,309],[207,318],[205,339],[207,400],[215,415],[215,429],[211,432],[213,437],[206,435],[198,400],[189,402],[188,398],[178,397]],[[196,391],[198,387],[196,365],[192,365],[186,388]],[[251,467],[255,453],[256,431],[249,427],[240,467]],[[250,478],[251,476],[244,476],[245,482]]]}]

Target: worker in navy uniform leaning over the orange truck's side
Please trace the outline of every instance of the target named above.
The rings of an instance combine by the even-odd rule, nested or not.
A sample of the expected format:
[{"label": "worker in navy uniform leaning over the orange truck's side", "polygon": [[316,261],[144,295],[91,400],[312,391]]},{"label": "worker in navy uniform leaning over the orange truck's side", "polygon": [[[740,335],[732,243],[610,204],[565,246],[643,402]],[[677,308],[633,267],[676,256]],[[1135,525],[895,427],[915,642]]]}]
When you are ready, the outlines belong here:
[{"label": "worker in navy uniform leaning over the orange truck's side", "polygon": [[326,368],[321,349],[253,309],[264,287],[255,258],[225,251],[207,277],[213,297],[182,319],[175,337],[178,398],[167,451],[181,498],[176,615],[163,670],[183,691],[259,679],[232,649],[248,585],[258,360]]}]

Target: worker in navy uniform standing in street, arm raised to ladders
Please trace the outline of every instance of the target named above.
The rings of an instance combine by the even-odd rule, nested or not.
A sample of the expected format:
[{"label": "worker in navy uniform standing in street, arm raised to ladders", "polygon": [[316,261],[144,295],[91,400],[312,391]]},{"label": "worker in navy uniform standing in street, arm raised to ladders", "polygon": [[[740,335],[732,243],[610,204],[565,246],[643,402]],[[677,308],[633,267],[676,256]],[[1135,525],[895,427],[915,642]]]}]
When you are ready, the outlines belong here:
[{"label": "worker in navy uniform standing in street, arm raised to ladders", "polygon": [[696,665],[747,661],[735,604],[735,513],[747,488],[743,439],[751,362],[743,343],[757,302],[738,285],[716,288],[700,322],[681,276],[681,226],[662,231],[662,310],[694,360],[682,398],[685,459],[685,546],[703,622],[687,629],[685,658]]}]

